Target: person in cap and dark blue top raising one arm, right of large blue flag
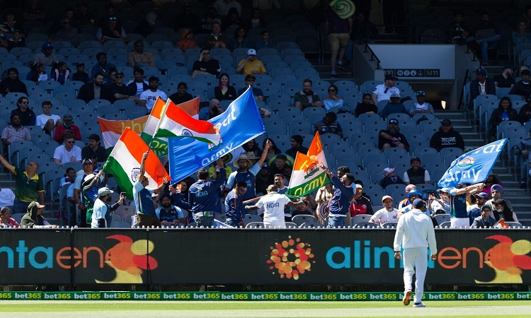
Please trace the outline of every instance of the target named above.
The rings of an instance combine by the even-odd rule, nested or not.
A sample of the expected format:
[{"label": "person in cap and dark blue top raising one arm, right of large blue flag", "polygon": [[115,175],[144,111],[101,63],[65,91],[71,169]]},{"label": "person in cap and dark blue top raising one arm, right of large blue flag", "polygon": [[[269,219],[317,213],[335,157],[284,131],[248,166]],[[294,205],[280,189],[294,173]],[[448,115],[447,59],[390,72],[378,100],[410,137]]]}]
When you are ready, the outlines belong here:
[{"label": "person in cap and dark blue top raising one arm, right of large blue flag", "polygon": [[225,184],[225,191],[232,191],[234,189],[234,184],[243,181],[247,184],[247,190],[245,194],[242,195],[242,200],[246,201],[249,199],[253,199],[256,197],[256,177],[255,175],[260,171],[264,161],[265,157],[268,154],[270,144],[265,144],[265,149],[261,153],[261,157],[258,160],[257,163],[253,164],[251,161],[252,159],[258,159],[256,156],[252,153],[242,153],[239,155],[238,160],[234,160],[232,162],[232,165],[236,167],[238,170],[232,172],[229,175],[229,178],[227,179],[227,184]]}]

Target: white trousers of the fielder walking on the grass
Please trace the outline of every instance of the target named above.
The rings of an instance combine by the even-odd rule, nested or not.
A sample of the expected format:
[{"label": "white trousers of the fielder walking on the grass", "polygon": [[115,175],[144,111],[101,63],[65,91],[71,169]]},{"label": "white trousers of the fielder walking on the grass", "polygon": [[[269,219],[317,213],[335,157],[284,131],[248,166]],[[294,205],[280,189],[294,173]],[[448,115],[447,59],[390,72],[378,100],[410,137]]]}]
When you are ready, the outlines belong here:
[{"label": "white trousers of the fielder walking on the grass", "polygon": [[416,247],[413,249],[404,249],[404,294],[411,290],[411,281],[413,273],[415,274],[415,298],[413,302],[418,304],[422,302],[424,293],[424,278],[428,269],[428,248]]}]

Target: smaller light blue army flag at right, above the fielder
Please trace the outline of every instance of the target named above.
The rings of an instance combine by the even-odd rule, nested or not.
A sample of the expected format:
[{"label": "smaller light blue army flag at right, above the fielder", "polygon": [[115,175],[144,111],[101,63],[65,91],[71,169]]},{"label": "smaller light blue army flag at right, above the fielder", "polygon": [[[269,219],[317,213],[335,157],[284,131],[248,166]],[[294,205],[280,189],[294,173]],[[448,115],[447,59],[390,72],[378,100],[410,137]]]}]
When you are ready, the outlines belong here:
[{"label": "smaller light blue army flag at right, above the fielder", "polygon": [[455,188],[459,183],[475,184],[483,182],[498,160],[507,139],[501,139],[464,153],[452,162],[445,175],[440,178],[438,186]]}]

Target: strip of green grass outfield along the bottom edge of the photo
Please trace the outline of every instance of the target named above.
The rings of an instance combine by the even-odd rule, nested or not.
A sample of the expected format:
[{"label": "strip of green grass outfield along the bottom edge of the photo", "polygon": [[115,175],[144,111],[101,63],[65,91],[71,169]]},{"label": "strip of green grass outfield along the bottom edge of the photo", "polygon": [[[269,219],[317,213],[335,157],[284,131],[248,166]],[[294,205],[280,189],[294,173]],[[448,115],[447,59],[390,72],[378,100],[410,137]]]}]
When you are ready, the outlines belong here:
[{"label": "strip of green grass outfield along the bottom edge of the photo", "polygon": [[401,302],[1,300],[0,317],[531,317],[527,301]]}]

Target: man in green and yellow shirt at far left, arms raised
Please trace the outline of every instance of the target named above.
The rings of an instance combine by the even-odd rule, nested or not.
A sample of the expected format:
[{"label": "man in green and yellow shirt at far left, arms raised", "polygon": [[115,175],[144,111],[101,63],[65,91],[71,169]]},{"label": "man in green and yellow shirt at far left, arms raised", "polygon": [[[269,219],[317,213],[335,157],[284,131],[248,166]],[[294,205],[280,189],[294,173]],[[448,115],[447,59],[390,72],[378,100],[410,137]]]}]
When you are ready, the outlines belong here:
[{"label": "man in green and yellow shirt at far left, arms raised", "polygon": [[25,170],[15,167],[0,155],[0,163],[15,175],[14,213],[25,213],[32,201],[44,202],[44,185],[37,174],[39,164],[34,161],[28,163]]}]

